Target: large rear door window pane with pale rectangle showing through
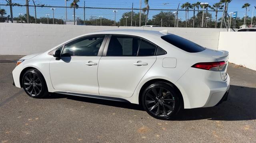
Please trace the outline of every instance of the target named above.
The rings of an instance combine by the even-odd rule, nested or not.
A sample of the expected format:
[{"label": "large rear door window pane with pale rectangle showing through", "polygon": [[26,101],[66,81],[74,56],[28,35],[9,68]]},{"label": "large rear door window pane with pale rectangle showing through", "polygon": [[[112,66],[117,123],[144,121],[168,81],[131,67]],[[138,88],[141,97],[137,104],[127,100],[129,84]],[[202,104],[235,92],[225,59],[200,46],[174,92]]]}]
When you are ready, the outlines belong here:
[{"label": "large rear door window pane with pale rectangle showing through", "polygon": [[107,56],[136,56],[140,38],[112,35],[108,44]]}]

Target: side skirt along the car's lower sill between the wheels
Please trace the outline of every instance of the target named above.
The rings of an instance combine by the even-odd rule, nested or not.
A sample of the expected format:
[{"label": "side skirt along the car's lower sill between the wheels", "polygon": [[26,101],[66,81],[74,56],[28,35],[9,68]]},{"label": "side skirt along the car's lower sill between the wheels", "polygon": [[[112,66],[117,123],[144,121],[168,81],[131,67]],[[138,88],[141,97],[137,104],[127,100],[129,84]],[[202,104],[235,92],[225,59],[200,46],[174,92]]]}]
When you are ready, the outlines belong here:
[{"label": "side skirt along the car's lower sill between the wheels", "polygon": [[114,97],[108,97],[108,96],[89,95],[89,94],[80,94],[80,93],[71,93],[71,92],[55,92],[55,93],[130,103],[128,100],[125,100],[122,98],[114,98]]}]

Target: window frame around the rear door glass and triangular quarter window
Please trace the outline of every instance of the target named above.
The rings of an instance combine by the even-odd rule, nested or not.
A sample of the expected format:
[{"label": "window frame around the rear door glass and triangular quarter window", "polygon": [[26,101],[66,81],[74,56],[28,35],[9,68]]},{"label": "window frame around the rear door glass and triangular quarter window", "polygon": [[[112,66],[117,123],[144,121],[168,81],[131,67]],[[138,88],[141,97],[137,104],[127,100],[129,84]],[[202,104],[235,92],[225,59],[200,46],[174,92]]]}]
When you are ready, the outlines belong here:
[{"label": "window frame around the rear door glass and triangular quarter window", "polygon": [[[132,37],[132,38],[139,38],[139,39],[140,39],[140,45],[141,45],[142,40],[145,40],[146,42],[148,42],[148,43],[150,43],[150,44],[152,44],[152,45],[154,45],[154,46],[156,47],[155,52],[154,52],[154,55],[139,56],[139,55],[138,55],[139,50],[140,50],[140,45],[139,45],[138,51],[137,51],[137,55],[136,55],[136,56],[107,56],[108,45],[109,45],[109,43],[110,43],[110,39],[111,39],[112,35],[114,35],[114,36],[126,36],[126,37]],[[102,56],[104,56],[104,57],[151,57],[151,56],[157,56],[157,55],[156,55],[156,52],[157,52],[158,47],[161,48],[160,46],[156,45],[155,43],[152,43],[151,41],[149,41],[149,40],[147,40],[147,39],[145,39],[145,38],[139,37],[139,36],[135,36],[135,35],[125,35],[125,34],[109,34],[109,35],[108,35],[108,39],[106,40],[106,44],[105,44],[105,46],[104,46],[104,50],[103,50]],[[162,48],[161,48],[161,49],[162,49]],[[162,50],[164,50],[164,49],[162,49]],[[164,51],[165,51],[165,50],[164,50]],[[166,51],[165,51],[165,53],[167,54]],[[164,55],[165,55],[165,54],[164,54]]]}]

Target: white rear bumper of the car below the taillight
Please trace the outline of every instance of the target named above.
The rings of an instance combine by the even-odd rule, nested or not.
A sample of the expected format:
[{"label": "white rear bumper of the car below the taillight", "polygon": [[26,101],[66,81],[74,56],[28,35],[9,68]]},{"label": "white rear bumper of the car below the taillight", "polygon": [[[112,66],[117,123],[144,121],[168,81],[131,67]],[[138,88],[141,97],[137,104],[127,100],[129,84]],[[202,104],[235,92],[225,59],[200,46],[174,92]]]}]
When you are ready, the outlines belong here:
[{"label": "white rear bumper of the car below the taillight", "polygon": [[184,108],[212,107],[226,100],[230,77],[223,81],[220,72],[190,68],[175,83],[184,100]]}]

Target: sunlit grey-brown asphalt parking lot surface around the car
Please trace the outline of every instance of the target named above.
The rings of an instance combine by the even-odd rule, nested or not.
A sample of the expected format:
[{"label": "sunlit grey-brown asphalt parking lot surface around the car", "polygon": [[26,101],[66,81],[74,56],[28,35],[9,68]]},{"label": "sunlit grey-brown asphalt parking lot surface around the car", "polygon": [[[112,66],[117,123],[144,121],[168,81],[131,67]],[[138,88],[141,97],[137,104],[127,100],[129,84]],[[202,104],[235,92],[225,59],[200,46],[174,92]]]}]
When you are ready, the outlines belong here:
[{"label": "sunlit grey-brown asphalt parking lot surface around the car", "polygon": [[[20,56],[0,55],[0,60]],[[256,142],[256,71],[229,64],[228,101],[186,109],[172,121],[141,106],[51,94],[34,99],[12,85],[15,63],[0,62],[0,141],[9,142]]]}]

